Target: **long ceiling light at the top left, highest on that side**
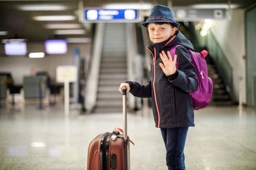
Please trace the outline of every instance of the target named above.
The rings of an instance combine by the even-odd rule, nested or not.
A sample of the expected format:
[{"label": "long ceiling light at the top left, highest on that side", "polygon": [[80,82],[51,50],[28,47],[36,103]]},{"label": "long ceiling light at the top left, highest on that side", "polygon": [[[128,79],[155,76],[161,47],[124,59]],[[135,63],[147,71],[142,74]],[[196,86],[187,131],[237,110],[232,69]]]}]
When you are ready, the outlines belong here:
[{"label": "long ceiling light at the top left, highest on that side", "polygon": [[67,10],[68,7],[64,5],[54,5],[54,4],[35,4],[35,5],[19,5],[17,6],[19,10],[24,11],[58,11]]}]

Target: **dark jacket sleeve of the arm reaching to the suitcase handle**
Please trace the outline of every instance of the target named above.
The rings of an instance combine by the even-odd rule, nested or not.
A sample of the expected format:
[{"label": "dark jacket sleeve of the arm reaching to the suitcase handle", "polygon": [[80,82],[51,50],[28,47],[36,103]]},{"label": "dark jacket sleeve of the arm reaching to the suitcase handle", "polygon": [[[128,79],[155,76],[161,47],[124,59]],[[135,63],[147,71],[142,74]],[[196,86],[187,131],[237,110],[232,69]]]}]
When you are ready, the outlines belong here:
[{"label": "dark jacket sleeve of the arm reaching to the suitcase handle", "polygon": [[138,82],[129,81],[132,83],[131,94],[135,97],[147,98],[151,97],[151,81],[147,85],[141,85]]}]

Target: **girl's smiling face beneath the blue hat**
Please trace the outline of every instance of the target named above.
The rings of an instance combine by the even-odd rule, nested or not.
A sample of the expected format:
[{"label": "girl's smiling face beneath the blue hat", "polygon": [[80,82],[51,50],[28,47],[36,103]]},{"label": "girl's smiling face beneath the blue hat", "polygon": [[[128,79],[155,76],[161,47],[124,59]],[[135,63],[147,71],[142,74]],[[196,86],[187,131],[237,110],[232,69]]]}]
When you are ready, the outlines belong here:
[{"label": "girl's smiling face beneath the blue hat", "polygon": [[176,27],[172,28],[170,24],[156,25],[156,23],[148,23],[149,38],[154,43],[163,42],[174,35],[176,31],[175,28]]}]

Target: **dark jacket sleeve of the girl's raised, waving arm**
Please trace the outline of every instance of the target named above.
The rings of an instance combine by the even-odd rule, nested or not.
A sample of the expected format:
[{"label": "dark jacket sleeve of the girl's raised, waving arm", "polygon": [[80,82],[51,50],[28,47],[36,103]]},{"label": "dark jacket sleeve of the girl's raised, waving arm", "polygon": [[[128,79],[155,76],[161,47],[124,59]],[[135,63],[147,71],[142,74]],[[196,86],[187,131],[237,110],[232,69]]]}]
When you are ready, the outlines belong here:
[{"label": "dark jacket sleeve of the girl's raised, waving arm", "polygon": [[168,77],[169,82],[179,87],[182,91],[193,93],[198,89],[195,66],[189,52],[185,47],[177,47],[177,76]]}]

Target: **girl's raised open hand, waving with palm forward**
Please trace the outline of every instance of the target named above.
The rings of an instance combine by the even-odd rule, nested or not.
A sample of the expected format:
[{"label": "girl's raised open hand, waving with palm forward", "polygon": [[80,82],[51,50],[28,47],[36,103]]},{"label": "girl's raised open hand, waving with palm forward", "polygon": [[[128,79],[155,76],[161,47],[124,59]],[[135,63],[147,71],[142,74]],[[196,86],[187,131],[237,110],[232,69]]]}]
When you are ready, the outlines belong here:
[{"label": "girl's raised open hand, waving with palm forward", "polygon": [[174,55],[173,61],[172,61],[172,56],[169,51],[167,51],[167,55],[169,58],[166,56],[164,51],[162,51],[162,53],[160,53],[159,55],[160,55],[161,60],[164,63],[164,64],[162,64],[162,63],[159,64],[160,67],[162,68],[164,74],[166,76],[174,74],[176,72],[175,64],[176,64],[176,60],[177,60],[177,55]]}]

